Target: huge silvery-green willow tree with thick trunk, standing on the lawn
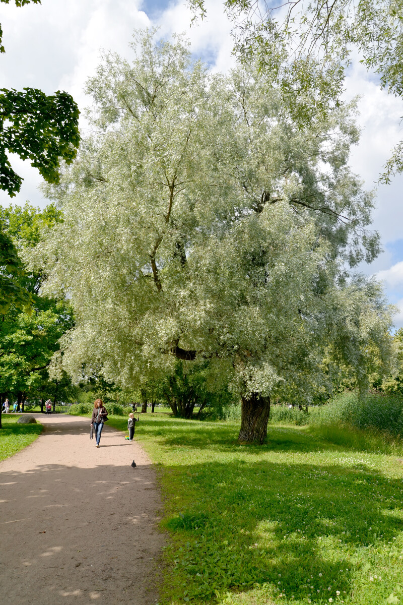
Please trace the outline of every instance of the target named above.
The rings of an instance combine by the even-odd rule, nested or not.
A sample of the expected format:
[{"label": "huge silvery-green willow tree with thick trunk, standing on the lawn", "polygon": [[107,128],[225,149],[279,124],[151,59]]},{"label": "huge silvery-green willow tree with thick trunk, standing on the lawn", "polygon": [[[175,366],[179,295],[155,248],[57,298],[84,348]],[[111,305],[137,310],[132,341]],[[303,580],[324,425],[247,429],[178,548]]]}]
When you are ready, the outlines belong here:
[{"label": "huge silvery-green willow tree with thick trunk, standing on the lawn", "polygon": [[93,131],[48,189],[65,220],[32,262],[76,318],[55,364],[128,385],[208,359],[242,397],[239,438],[261,442],[270,397],[309,397],[326,356],[364,384],[369,344],[378,366],[390,352],[379,288],[340,268],[378,252],[353,108],[302,131],[253,67],[211,76],[181,38],[136,49],[89,80]]}]

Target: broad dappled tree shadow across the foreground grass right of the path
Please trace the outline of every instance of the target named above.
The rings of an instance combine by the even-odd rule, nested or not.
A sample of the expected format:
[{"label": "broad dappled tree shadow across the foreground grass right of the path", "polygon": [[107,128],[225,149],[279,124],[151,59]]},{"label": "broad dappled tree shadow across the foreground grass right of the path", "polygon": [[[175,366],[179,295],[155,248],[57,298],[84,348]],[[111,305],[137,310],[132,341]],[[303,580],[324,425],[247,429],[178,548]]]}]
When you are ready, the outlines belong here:
[{"label": "broad dappled tree shadow across the foreground grass right of the path", "polygon": [[[335,601],[337,590],[350,592],[367,561],[372,569],[384,567],[379,545],[396,544],[403,530],[396,509],[401,480],[365,465],[234,459],[186,469],[188,504],[167,526],[175,532],[175,572],[191,599],[208,602],[214,590],[245,591],[259,583],[294,602]],[[397,572],[398,554],[395,564]],[[396,572],[387,574],[389,592]],[[366,602],[377,598],[369,594]]]}]

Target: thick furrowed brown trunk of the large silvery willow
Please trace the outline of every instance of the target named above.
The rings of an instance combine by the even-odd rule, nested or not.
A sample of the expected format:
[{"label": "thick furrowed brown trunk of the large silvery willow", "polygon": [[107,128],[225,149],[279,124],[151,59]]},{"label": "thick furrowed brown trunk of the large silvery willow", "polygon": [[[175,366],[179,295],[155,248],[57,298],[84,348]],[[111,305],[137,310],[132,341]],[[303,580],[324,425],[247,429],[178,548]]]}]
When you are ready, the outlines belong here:
[{"label": "thick furrowed brown trunk of the large silvery willow", "polygon": [[253,393],[248,399],[242,397],[242,419],[240,422],[239,441],[253,443],[267,437],[267,423],[270,414],[270,397],[261,397]]}]

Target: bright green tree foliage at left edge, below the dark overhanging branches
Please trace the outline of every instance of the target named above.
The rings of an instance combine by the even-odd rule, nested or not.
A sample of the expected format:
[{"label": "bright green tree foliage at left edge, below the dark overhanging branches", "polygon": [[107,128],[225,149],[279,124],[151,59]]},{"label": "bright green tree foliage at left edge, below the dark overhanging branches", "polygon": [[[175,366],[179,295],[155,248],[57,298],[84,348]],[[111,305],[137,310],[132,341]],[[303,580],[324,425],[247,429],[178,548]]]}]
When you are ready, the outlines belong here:
[{"label": "bright green tree foliage at left edge, below the dark overhanging branches", "polygon": [[[44,210],[25,204],[0,208],[0,227],[5,237],[13,241],[24,256],[27,249],[36,246],[40,232],[51,229],[63,220],[62,212],[50,204]],[[68,301],[57,301],[37,292],[44,280],[42,272],[27,272],[19,261],[21,270],[13,283],[27,292],[31,301],[31,313],[21,312],[18,305],[8,301],[7,312],[0,322],[0,393],[17,397],[44,397],[66,400],[73,397],[75,388],[67,374],[60,370],[57,378],[50,379],[48,366],[59,349],[59,338],[73,326],[73,316]]]}]

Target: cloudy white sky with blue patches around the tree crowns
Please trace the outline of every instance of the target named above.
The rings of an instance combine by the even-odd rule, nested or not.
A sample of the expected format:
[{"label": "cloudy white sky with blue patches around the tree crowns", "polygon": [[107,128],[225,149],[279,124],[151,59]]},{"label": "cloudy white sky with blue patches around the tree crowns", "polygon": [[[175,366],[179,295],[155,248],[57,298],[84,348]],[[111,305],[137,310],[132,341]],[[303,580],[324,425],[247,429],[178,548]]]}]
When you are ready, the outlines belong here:
[{"label": "cloudy white sky with blue patches around the tree crowns", "polygon": [[[100,49],[117,51],[130,58],[127,43],[134,28],[160,25],[161,37],[186,31],[193,53],[214,71],[226,71],[233,64],[230,24],[219,0],[207,0],[207,20],[189,28],[190,13],[185,0],[42,0],[42,5],[16,8],[0,5],[6,54],[0,56],[1,85],[4,88],[41,88],[71,93],[80,109],[88,104],[83,85],[94,73]],[[353,148],[350,163],[367,188],[375,187],[379,172],[393,146],[403,138],[403,103],[379,90],[376,77],[358,62],[346,81],[346,99],[359,94],[361,141]],[[82,122],[85,128],[85,122]],[[21,193],[13,203],[29,200],[44,206],[37,186],[38,172],[29,163],[13,158],[13,167],[24,177]],[[403,326],[403,176],[377,191],[373,228],[381,233],[384,252],[360,270],[376,273],[384,280],[390,301],[398,304],[396,327]],[[0,192],[0,204],[10,198]]]}]

